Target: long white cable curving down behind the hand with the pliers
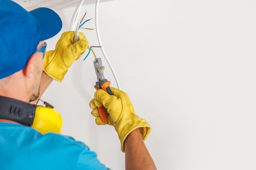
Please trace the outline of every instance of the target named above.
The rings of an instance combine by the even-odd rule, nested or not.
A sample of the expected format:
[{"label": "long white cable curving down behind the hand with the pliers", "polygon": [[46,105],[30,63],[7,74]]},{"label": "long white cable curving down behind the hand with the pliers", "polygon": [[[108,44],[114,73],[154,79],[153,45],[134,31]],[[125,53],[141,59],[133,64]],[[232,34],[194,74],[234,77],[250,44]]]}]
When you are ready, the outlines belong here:
[{"label": "long white cable curving down behind the hand with the pliers", "polygon": [[105,50],[104,50],[104,47],[103,47],[102,42],[101,42],[101,39],[100,39],[100,31],[99,31],[99,24],[98,24],[98,9],[99,9],[99,3],[100,3],[100,0],[97,0],[97,1],[96,1],[96,5],[95,5],[95,26],[96,26],[97,38],[98,38],[98,41],[99,41],[99,45],[102,46],[102,47],[100,48],[101,51],[102,51],[102,54],[103,54],[104,58],[107,60],[108,65],[109,65],[109,67],[110,67],[110,69],[111,69],[111,71],[112,71],[112,73],[113,73],[113,75],[114,75],[114,78],[115,78],[115,80],[116,80],[117,87],[118,87],[118,89],[121,89],[120,83],[119,83],[118,78],[117,78],[117,76],[116,76],[116,72],[115,72],[115,70],[114,70],[114,68],[113,68],[113,66],[112,66],[112,64],[111,64],[111,62],[110,62],[109,59],[108,59],[108,56],[107,56],[107,54],[106,54],[106,52],[105,52]]}]

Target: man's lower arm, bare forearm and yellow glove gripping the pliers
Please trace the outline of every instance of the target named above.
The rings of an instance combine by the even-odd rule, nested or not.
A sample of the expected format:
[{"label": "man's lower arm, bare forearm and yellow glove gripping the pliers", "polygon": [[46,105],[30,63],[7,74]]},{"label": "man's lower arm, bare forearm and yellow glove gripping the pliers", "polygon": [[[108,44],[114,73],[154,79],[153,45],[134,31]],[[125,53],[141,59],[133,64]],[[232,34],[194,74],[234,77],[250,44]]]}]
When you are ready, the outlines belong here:
[{"label": "man's lower arm, bare forearm and yellow glove gripping the pliers", "polygon": [[[96,117],[96,124],[109,124],[115,127],[121,142],[121,151],[125,152],[126,169],[156,169],[143,142],[148,137],[151,126],[145,119],[134,113],[132,103],[126,93],[115,88],[111,88],[111,91],[113,95],[109,95],[102,89],[97,90],[94,99],[90,102],[90,107],[93,109],[91,113]],[[108,113],[106,122],[101,120],[97,109],[102,105]]]}]

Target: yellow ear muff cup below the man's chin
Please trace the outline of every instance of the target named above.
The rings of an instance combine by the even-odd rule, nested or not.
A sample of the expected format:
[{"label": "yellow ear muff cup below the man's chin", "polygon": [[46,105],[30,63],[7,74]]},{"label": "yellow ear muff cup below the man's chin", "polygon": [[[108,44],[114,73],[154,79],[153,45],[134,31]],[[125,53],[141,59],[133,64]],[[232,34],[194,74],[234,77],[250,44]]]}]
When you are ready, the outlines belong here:
[{"label": "yellow ear muff cup below the man's chin", "polygon": [[53,132],[60,133],[62,128],[62,118],[60,114],[50,107],[37,106],[35,118],[31,126],[42,134]]}]

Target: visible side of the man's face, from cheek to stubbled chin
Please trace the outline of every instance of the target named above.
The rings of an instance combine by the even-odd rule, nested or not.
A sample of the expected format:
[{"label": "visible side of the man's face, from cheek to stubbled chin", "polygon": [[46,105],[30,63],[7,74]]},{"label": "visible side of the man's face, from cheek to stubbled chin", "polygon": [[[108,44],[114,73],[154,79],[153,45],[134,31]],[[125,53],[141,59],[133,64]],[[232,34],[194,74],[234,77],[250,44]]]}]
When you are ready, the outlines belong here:
[{"label": "visible side of the man's face, from cheek to stubbled chin", "polygon": [[[40,41],[38,46],[37,46],[37,50],[42,48],[42,46],[44,46],[44,41]],[[38,99],[39,97],[39,89],[40,89],[40,81],[41,81],[41,76],[42,76],[42,72],[43,72],[43,67],[44,67],[44,53],[35,53],[36,57],[35,60],[33,61],[33,65],[35,67],[33,67],[34,71],[33,71],[33,82],[31,84],[31,94],[30,94],[30,99],[29,102],[35,101],[36,99]]]}]

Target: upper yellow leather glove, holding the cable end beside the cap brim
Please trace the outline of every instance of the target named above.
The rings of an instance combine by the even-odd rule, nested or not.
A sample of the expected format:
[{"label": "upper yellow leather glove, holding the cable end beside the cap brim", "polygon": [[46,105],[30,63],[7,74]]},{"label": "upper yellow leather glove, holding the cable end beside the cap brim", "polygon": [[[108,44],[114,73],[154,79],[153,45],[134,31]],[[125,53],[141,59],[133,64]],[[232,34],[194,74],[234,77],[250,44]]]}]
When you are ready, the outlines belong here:
[{"label": "upper yellow leather glove, holding the cable end beside the cap brim", "polygon": [[54,80],[61,82],[68,68],[78,60],[88,48],[89,42],[79,32],[78,41],[74,42],[74,31],[62,33],[55,50],[48,51],[44,57],[44,72]]}]

